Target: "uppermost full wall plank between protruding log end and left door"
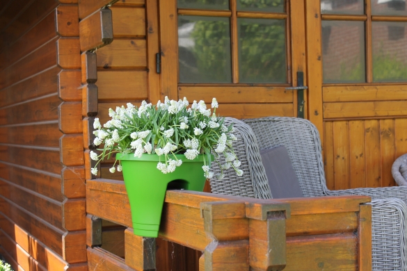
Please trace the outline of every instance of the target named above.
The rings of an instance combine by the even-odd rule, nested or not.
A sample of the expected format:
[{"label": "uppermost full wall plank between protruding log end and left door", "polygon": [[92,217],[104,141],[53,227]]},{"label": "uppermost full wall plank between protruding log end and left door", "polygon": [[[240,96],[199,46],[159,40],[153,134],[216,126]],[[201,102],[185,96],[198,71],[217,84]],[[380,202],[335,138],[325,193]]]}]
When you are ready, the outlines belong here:
[{"label": "uppermost full wall plank between protruding log end and left door", "polygon": [[145,9],[111,7],[114,38],[145,37]]}]

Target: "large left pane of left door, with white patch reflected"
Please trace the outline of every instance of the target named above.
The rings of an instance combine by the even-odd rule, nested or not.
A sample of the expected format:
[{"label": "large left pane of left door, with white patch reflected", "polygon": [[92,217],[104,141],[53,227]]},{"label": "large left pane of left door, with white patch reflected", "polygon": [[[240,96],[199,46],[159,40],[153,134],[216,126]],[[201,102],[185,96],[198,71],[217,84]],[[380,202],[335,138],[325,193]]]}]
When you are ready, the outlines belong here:
[{"label": "large left pane of left door, with white patch reflected", "polygon": [[178,16],[180,83],[231,83],[230,20]]}]

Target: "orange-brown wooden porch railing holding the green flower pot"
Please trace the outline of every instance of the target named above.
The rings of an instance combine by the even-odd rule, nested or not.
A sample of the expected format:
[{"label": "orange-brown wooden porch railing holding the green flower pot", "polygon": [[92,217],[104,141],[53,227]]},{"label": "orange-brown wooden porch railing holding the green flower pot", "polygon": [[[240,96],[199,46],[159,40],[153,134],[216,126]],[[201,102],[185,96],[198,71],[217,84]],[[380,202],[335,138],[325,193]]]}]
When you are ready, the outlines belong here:
[{"label": "orange-brown wooden porch railing holding the green flower pot", "polygon": [[[155,270],[155,239],[135,236],[122,181],[88,181],[89,270]],[[250,199],[169,190],[159,238],[202,251],[199,270],[371,270],[369,197]],[[145,206],[148,208],[148,206]],[[102,245],[98,219],[121,224],[125,259]]]}]

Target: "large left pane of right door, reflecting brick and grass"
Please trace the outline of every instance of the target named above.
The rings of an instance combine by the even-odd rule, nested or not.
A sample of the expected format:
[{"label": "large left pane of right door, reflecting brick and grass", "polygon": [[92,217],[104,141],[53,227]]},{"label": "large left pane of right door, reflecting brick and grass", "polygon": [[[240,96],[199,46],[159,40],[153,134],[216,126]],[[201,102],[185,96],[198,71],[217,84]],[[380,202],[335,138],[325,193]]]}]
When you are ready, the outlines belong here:
[{"label": "large left pane of right door, reflecting brick and grass", "polygon": [[324,83],[365,82],[365,22],[322,21]]}]

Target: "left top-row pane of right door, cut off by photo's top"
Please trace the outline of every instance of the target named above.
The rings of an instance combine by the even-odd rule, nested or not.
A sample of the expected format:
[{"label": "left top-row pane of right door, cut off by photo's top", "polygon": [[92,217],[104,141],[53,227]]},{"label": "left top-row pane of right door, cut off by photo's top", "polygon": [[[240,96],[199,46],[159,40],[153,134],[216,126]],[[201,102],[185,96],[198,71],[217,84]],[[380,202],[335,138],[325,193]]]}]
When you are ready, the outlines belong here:
[{"label": "left top-row pane of right door, cut off by photo's top", "polygon": [[363,6],[363,0],[321,0],[321,13],[362,15]]}]

